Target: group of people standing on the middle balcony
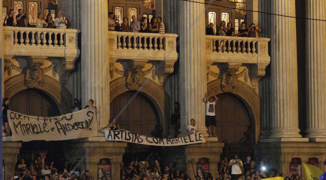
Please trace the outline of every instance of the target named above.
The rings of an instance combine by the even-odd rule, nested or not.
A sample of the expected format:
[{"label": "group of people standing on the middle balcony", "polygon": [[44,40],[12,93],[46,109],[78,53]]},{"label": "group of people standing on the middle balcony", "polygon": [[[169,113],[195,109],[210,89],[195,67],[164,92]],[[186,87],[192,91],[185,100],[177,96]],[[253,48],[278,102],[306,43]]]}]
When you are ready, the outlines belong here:
[{"label": "group of people standing on the middle balcony", "polygon": [[147,18],[141,17],[140,22],[136,20],[136,16],[131,16],[130,25],[128,19],[124,17],[122,23],[119,23],[117,16],[109,13],[109,31],[121,32],[152,32],[152,33],[165,33],[165,25],[161,17],[153,17],[147,25]]}]

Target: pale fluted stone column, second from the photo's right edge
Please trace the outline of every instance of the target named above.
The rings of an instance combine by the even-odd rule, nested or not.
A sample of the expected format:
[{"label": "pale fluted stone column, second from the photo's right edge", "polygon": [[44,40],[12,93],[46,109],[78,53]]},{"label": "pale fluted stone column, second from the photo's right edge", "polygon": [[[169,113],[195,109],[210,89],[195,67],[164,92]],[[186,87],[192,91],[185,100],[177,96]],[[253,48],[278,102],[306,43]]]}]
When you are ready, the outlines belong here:
[{"label": "pale fluted stone column, second from the photo's right edge", "polygon": [[[295,16],[295,0],[272,0],[271,13]],[[271,138],[298,138],[298,78],[295,18],[271,16]]]}]

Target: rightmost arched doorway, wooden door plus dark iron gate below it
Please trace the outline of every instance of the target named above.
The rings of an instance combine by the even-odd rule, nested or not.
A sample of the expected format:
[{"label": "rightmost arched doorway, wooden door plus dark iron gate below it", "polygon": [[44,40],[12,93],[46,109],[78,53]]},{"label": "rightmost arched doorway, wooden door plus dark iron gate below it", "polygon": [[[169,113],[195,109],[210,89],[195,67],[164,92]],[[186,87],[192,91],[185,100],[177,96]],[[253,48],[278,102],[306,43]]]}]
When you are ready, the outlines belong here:
[{"label": "rightmost arched doorway, wooden door plus dark iron gate below it", "polygon": [[222,158],[232,159],[234,153],[240,158],[253,151],[253,125],[244,104],[232,94],[219,94],[215,105],[216,135],[224,142]]}]

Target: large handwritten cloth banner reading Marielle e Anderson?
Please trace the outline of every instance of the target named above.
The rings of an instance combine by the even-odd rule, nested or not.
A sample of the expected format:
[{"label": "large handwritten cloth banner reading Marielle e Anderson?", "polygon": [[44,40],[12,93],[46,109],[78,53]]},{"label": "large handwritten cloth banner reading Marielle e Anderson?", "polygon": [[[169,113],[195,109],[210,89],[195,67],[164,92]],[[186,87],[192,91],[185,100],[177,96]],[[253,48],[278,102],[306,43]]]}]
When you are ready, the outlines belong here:
[{"label": "large handwritten cloth banner reading Marielle e Anderson?", "polygon": [[8,110],[13,141],[58,141],[97,136],[96,114],[83,109],[56,117],[37,117]]}]

